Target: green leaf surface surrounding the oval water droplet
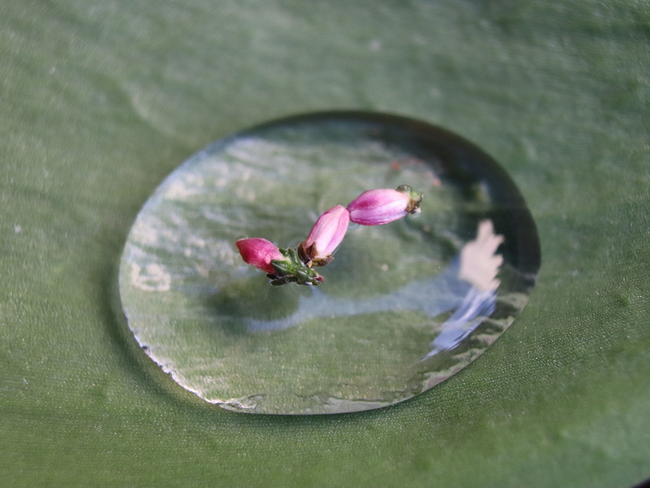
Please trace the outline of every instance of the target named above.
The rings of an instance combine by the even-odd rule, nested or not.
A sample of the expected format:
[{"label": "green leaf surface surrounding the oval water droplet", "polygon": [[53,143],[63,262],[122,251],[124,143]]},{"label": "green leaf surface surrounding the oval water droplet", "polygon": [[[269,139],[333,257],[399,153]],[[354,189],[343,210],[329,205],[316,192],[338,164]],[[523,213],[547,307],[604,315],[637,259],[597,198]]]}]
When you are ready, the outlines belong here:
[{"label": "green leaf surface surrounding the oval water droplet", "polygon": [[[648,1],[3,0],[0,472],[11,487],[628,487],[650,476]],[[487,352],[394,407],[222,411],[116,306],[140,206],[209,142],[322,109],[456,131],[542,267]]]}]

